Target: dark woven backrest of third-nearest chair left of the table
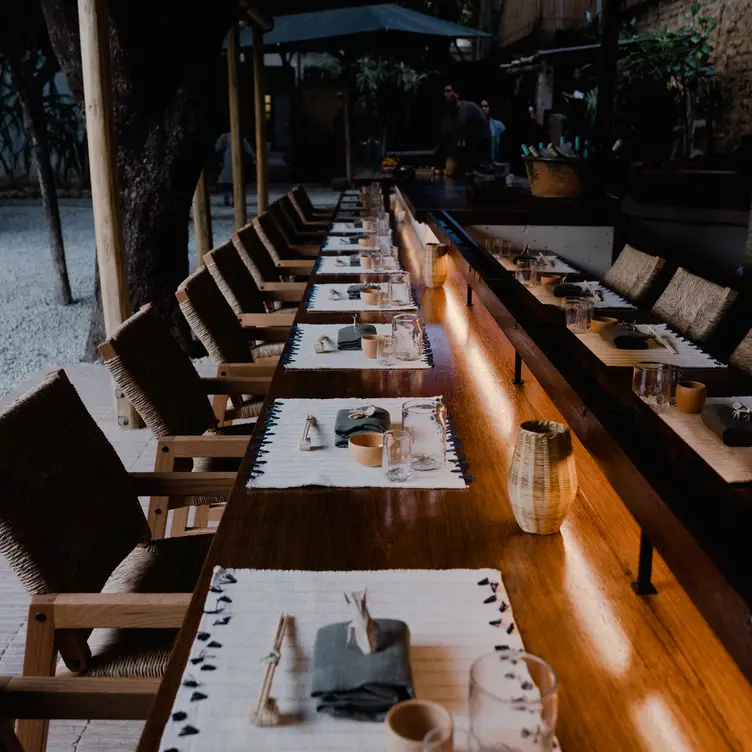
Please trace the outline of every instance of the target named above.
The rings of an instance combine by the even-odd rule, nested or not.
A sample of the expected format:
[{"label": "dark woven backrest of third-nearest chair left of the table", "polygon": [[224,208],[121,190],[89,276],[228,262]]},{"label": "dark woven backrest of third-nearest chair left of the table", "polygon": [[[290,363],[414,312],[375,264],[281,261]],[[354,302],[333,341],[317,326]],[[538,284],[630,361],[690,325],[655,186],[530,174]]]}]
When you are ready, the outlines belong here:
[{"label": "dark woven backrest of third-nearest chair left of the table", "polygon": [[186,321],[215,363],[250,363],[250,342],[206,267],[175,293]]}]

